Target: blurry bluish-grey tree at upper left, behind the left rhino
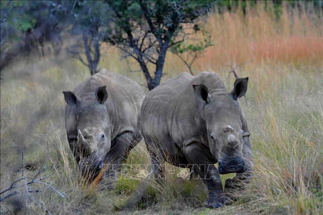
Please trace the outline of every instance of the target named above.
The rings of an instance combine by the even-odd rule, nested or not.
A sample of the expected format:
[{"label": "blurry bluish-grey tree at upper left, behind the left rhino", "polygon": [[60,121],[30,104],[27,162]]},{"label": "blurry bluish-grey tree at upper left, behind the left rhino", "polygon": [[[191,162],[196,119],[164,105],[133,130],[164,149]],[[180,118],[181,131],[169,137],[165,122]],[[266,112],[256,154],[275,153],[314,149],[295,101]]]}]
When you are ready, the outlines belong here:
[{"label": "blurry bluish-grey tree at upper left, behind the left rhino", "polygon": [[[72,57],[89,68],[91,75],[98,72],[102,31],[110,23],[109,8],[103,1],[73,0],[56,1],[55,8],[66,8],[64,25],[70,26],[70,33],[77,40],[68,47]],[[81,36],[81,37],[79,37]]]}]

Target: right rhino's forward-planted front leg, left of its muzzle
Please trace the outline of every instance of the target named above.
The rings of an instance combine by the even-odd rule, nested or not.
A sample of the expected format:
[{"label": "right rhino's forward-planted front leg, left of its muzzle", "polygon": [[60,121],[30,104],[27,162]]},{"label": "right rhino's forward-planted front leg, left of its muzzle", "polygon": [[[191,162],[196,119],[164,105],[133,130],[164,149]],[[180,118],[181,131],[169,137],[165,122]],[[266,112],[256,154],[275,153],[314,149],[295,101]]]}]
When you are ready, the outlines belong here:
[{"label": "right rhino's forward-planted front leg, left of its muzzle", "polygon": [[209,197],[204,202],[207,207],[218,208],[228,203],[223,194],[222,183],[214,162],[208,159],[207,153],[197,143],[186,146],[185,155],[194,172],[197,172],[207,186]]}]

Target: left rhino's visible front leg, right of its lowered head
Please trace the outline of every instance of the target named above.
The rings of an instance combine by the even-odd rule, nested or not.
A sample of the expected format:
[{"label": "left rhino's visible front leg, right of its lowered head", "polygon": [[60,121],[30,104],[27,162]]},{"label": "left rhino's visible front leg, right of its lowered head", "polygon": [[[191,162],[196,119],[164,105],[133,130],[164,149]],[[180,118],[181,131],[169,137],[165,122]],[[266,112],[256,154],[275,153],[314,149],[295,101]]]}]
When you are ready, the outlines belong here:
[{"label": "left rhino's visible front leg, right of its lowered head", "polygon": [[130,150],[139,141],[132,132],[123,132],[115,137],[114,144],[104,159],[104,165],[107,165],[104,171],[105,187],[109,189],[115,188],[121,163],[127,159]]}]

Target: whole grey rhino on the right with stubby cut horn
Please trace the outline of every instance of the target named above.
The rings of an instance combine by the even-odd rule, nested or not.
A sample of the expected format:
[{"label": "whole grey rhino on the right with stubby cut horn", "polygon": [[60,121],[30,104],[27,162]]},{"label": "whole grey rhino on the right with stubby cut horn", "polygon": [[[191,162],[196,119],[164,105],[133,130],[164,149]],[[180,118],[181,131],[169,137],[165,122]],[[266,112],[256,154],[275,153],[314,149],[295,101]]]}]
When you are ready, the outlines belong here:
[{"label": "whole grey rhino on the right with stubby cut horn", "polygon": [[[220,174],[237,173],[248,179],[253,169],[249,130],[238,98],[246,93],[248,78],[238,79],[228,92],[219,76],[183,73],[153,89],[141,107],[141,131],[152,157],[153,172],[163,180],[163,162],[188,166],[207,185],[207,207],[228,202]],[[219,163],[217,169],[214,164]],[[198,165],[192,165],[198,164]]]}]

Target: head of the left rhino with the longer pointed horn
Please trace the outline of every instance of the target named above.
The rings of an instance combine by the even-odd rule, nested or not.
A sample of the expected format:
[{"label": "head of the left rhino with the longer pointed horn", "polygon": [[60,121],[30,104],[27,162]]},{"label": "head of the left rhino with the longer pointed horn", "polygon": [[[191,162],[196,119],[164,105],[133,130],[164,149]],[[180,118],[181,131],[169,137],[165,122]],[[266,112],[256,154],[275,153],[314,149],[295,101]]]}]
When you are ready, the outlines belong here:
[{"label": "head of the left rhino with the longer pointed horn", "polygon": [[102,169],[104,158],[111,147],[110,119],[104,104],[108,93],[105,86],[99,87],[95,93],[84,94],[82,99],[70,91],[63,93],[66,103],[76,107],[81,171],[83,174],[96,174]]}]

